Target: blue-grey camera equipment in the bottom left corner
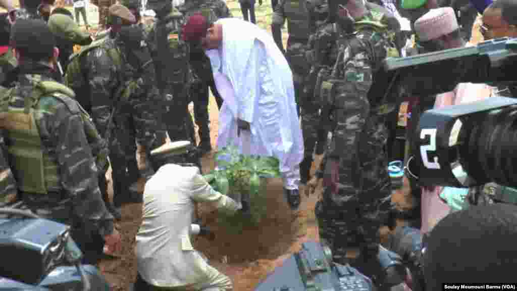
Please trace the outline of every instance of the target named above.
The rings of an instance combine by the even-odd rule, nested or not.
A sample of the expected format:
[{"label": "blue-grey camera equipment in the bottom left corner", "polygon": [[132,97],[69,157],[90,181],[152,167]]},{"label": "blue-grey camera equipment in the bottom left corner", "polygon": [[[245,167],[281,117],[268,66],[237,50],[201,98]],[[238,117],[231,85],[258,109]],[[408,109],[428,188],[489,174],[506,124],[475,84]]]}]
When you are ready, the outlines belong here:
[{"label": "blue-grey camera equipment in the bottom left corner", "polygon": [[0,257],[0,291],[111,289],[95,266],[81,264],[69,226],[29,211],[0,208]]}]

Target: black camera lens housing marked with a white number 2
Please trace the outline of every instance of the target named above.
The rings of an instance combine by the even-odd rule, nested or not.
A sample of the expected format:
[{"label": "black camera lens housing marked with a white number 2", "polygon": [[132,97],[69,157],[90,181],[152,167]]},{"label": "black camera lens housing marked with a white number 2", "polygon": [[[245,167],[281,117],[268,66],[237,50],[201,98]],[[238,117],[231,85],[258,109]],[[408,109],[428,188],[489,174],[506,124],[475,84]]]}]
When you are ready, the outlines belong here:
[{"label": "black camera lens housing marked with a white number 2", "polygon": [[[417,129],[419,179],[424,185],[472,187],[491,181],[517,186],[503,155],[517,99],[492,97],[425,111]],[[509,161],[508,161],[509,162]]]}]

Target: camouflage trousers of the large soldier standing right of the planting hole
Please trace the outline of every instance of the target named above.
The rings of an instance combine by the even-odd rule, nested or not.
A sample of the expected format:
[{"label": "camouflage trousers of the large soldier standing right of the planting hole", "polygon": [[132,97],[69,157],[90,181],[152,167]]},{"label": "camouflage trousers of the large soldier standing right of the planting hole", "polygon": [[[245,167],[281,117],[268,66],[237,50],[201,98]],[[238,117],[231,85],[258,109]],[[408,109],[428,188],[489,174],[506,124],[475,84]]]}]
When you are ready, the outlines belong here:
[{"label": "camouflage trousers of the large soldier standing right of the planting hole", "polygon": [[[328,191],[327,187],[324,193]],[[347,264],[350,262],[346,254],[351,249],[359,249],[364,258],[377,254],[379,228],[389,217],[390,199],[386,197],[369,202],[355,199],[341,207],[328,199],[321,199],[316,203],[314,213],[320,241],[329,246],[334,262]]]}]

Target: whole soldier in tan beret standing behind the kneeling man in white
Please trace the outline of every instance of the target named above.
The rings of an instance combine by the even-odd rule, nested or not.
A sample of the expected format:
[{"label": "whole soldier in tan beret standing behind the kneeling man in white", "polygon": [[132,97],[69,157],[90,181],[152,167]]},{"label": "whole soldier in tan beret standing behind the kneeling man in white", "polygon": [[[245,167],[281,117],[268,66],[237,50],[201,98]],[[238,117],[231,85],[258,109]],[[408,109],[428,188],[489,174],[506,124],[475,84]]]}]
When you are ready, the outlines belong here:
[{"label": "whole soldier in tan beret standing behind the kneeling man in white", "polygon": [[[133,14],[120,4],[110,7],[110,21],[109,37],[93,42],[83,52],[72,56],[66,81],[76,92],[88,92],[87,100],[83,102],[88,104],[102,136],[111,130],[107,128],[110,116],[114,110],[117,111],[112,123],[110,161],[113,200],[115,207],[120,207],[129,187],[125,146],[134,143],[135,138],[143,150],[141,177],[148,178],[154,174],[149,157],[150,150],[162,144],[156,138],[161,108],[158,106],[160,95],[155,85],[154,66],[147,47],[143,46],[142,29],[132,25],[135,22]],[[74,57],[78,58],[77,63],[74,63]],[[128,124],[132,126],[126,127]]]}]

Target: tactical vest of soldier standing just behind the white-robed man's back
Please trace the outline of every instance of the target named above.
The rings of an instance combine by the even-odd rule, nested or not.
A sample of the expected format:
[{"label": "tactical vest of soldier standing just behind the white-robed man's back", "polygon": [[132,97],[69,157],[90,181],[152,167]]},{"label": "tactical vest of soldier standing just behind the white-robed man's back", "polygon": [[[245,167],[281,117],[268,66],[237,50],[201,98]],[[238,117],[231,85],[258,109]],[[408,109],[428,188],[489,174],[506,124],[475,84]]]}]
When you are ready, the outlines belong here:
[{"label": "tactical vest of soldier standing just behind the white-robed man's back", "polygon": [[287,18],[287,32],[289,37],[308,39],[311,31],[307,17],[305,0],[286,0],[284,13]]}]

